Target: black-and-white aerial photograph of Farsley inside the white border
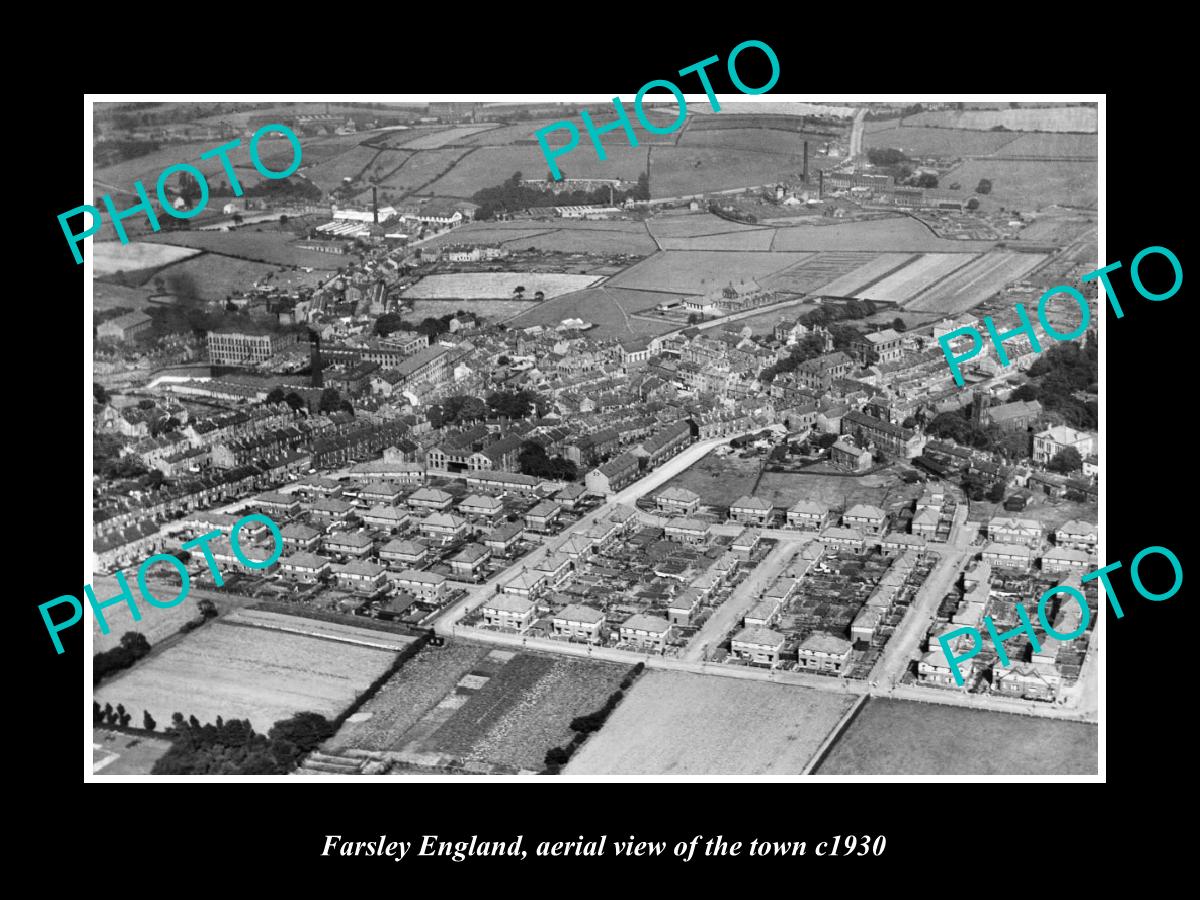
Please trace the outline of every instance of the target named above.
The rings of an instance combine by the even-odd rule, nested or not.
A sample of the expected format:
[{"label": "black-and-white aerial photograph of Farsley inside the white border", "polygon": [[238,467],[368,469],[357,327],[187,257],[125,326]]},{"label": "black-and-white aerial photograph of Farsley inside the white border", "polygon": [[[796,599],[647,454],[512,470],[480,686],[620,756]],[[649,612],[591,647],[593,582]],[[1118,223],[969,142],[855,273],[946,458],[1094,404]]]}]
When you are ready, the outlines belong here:
[{"label": "black-and-white aerial photograph of Farsley inside the white border", "polygon": [[1096,776],[1097,103],[787,96],[94,102],[91,774]]}]

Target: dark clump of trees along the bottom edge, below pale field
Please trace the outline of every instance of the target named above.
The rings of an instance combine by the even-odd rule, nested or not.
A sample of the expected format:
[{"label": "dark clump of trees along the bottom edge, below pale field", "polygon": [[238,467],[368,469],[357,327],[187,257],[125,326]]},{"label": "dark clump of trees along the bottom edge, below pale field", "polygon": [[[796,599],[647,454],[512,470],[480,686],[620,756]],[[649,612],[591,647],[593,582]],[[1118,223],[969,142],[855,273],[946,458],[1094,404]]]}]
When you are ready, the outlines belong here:
[{"label": "dark clump of trees along the bottom edge, below pale field", "polygon": [[256,732],[250,720],[227,722],[217,716],[215,725],[200,725],[194,715],[185,720],[175,713],[166,730],[174,742],[150,774],[286,775],[334,731],[334,724],[318,713],[281,719],[266,734]]}]

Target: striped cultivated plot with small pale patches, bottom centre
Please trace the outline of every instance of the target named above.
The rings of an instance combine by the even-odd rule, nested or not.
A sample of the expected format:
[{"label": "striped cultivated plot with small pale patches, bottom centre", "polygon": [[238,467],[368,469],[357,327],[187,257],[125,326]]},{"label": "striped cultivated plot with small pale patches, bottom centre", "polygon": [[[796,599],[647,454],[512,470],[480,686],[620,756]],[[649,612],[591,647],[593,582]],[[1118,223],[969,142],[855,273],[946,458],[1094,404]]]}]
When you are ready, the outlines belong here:
[{"label": "striped cultivated plot with small pale patches, bottom centre", "polygon": [[413,761],[536,770],[600,708],[629,668],[455,642],[426,648],[330,739],[335,750],[390,750]]}]

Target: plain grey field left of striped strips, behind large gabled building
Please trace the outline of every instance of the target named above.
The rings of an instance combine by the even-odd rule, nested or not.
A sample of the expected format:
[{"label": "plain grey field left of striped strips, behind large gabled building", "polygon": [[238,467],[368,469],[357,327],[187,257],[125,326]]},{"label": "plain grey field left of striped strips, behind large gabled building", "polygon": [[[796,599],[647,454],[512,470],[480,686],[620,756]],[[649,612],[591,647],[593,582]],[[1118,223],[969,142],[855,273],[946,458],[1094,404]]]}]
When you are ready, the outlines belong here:
[{"label": "plain grey field left of striped strips, behind large gabled building", "polygon": [[804,258],[800,253],[746,251],[733,256],[713,250],[667,250],[626,269],[610,283],[617,288],[703,294],[736,284],[738,278],[762,278]]}]

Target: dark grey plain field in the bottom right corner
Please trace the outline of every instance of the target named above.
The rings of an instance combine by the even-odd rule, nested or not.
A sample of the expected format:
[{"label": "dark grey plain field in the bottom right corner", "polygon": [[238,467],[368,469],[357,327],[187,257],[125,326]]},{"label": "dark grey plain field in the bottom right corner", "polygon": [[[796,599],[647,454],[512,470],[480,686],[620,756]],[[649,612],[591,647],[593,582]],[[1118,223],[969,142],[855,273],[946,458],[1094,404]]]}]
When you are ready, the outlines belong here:
[{"label": "dark grey plain field in the bottom right corner", "polygon": [[1082,722],[872,698],[815,774],[1094,775],[1098,734]]}]

